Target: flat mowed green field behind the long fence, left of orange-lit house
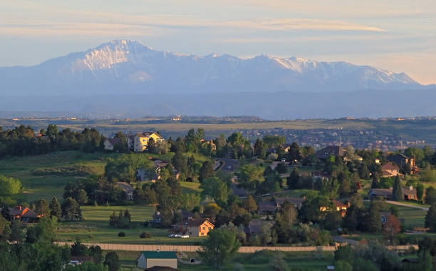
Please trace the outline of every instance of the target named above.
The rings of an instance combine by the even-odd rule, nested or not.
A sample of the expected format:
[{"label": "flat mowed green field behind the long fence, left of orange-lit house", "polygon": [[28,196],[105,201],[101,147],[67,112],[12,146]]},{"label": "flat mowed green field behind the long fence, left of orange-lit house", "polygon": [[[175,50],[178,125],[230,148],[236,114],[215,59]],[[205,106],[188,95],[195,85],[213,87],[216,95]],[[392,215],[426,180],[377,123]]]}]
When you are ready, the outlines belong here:
[{"label": "flat mowed green field behind the long fence, left of orange-lit house", "polygon": [[[128,209],[132,215],[132,223],[128,229],[117,229],[109,226],[109,216],[114,211]],[[154,206],[82,206],[84,220],[81,222],[60,223],[58,241],[72,242],[80,238],[82,242],[110,243],[110,244],[167,244],[194,245],[202,240],[201,237],[188,239],[169,238],[170,231],[144,227],[142,223],[152,218]],[[118,237],[118,232],[125,232],[125,237]],[[150,232],[151,238],[140,238],[141,232]]]}]

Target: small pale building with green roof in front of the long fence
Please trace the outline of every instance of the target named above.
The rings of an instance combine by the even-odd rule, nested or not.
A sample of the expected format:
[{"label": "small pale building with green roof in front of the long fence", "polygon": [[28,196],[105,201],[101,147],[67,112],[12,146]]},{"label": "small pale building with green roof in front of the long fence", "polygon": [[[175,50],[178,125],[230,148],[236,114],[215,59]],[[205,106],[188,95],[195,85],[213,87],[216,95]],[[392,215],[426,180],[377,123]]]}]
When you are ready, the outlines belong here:
[{"label": "small pale building with green roof in front of the long fence", "polygon": [[170,267],[177,269],[177,255],[173,251],[142,251],[136,259],[140,269],[152,267]]}]

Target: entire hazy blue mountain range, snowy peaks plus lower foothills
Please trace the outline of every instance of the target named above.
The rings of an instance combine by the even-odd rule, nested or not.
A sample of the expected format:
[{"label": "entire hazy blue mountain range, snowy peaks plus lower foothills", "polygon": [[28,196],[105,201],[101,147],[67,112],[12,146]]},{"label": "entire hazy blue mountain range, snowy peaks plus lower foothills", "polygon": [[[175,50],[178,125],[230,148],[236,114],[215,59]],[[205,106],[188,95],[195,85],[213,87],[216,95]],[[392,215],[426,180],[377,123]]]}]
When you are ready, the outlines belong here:
[{"label": "entire hazy blue mountain range, snowy peaks plus lower foothills", "polygon": [[[167,114],[223,116],[242,111],[244,115],[259,116],[258,112],[251,111],[256,108],[268,111],[271,104],[266,97],[280,97],[277,93],[300,97],[301,100],[297,101],[299,106],[310,102],[310,106],[306,107],[319,108],[316,106],[317,97],[338,97],[336,101],[341,103],[341,97],[353,97],[353,94],[346,93],[360,93],[358,96],[365,100],[379,94],[395,96],[403,93],[408,96],[408,93],[423,91],[433,94],[435,91],[435,85],[424,86],[405,73],[348,62],[264,55],[253,58],[227,54],[196,56],[157,51],[131,40],[110,41],[36,66],[0,67],[0,88],[4,96],[0,106],[5,111],[35,111],[41,110],[41,107],[46,111],[58,111],[68,108],[82,113],[104,112],[117,116],[132,111],[135,114],[153,114],[150,108],[160,108],[160,114],[165,114],[166,110]],[[384,93],[386,91],[389,94]],[[244,102],[244,96],[250,98]],[[306,98],[311,98],[311,101]],[[123,100],[130,101],[123,103],[128,108],[120,106]],[[228,108],[234,102],[230,100],[239,101],[236,105],[239,108],[233,111]],[[248,100],[251,104],[247,104]],[[52,101],[51,108],[46,108],[45,101]],[[253,103],[258,106],[252,108]],[[355,101],[355,106],[359,107],[359,103],[361,101]],[[147,111],[140,110],[144,106],[148,107]],[[198,110],[193,110],[192,106]],[[390,106],[388,104],[387,109]],[[209,110],[214,107],[223,111]],[[249,111],[244,111],[244,108]],[[357,111],[352,108],[349,113],[341,113],[353,115]],[[425,108],[425,112],[432,113],[434,109],[434,106]],[[292,111],[286,113],[284,108],[276,110],[281,113],[266,113],[261,117],[296,117]],[[386,116],[390,112],[393,111],[377,114]],[[300,113],[298,117],[318,115]]]}]

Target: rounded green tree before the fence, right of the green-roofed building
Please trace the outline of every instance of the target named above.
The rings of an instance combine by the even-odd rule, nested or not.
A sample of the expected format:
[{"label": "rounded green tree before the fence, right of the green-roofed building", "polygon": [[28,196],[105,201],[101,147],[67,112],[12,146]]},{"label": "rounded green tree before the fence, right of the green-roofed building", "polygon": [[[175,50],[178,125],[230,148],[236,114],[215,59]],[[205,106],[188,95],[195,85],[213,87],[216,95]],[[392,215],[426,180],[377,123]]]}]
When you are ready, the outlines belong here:
[{"label": "rounded green tree before the fence, right of the green-roofed building", "polygon": [[198,253],[204,263],[217,270],[232,260],[240,246],[235,232],[219,228],[209,232]]}]

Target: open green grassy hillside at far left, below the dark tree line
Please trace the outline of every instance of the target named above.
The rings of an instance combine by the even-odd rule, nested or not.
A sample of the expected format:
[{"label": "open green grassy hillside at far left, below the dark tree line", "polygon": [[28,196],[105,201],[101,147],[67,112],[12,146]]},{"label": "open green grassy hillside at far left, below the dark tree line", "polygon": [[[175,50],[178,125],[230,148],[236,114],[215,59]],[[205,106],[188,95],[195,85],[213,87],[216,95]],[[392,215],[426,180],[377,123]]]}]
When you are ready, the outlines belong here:
[{"label": "open green grassy hillside at far left, below the dark tree line", "polygon": [[62,165],[82,164],[92,168],[97,174],[104,173],[105,158],[117,154],[82,153],[80,151],[63,151],[26,157],[14,157],[0,160],[0,175],[19,178],[24,185],[24,193],[14,195],[14,200],[31,202],[45,198],[51,200],[56,196],[62,198],[63,188],[69,181],[83,176],[74,175],[33,175],[32,170],[38,168],[55,168]]}]

